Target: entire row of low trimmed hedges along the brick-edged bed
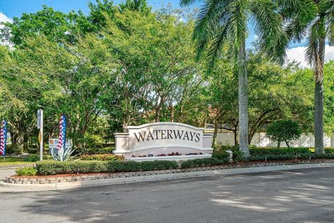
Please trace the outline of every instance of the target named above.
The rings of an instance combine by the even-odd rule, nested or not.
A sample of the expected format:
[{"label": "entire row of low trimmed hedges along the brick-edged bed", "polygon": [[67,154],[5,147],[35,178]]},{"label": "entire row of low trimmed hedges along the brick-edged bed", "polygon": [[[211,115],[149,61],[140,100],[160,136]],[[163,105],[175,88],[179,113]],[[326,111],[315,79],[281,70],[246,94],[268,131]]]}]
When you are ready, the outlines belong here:
[{"label": "entire row of low trimmed hedges along the brick-edged bed", "polygon": [[[263,161],[263,160],[292,160],[298,159],[319,159],[319,158],[334,158],[334,153],[315,154],[304,153],[300,155],[283,154],[283,155],[255,155],[244,158],[243,161]],[[181,168],[190,167],[206,167],[212,165],[221,165],[228,163],[228,158],[217,159],[203,158],[196,160],[186,160],[181,162]],[[37,162],[36,167],[24,167],[16,170],[19,176],[34,176],[41,175],[56,175],[56,174],[88,174],[88,173],[112,173],[121,171],[152,171],[162,169],[177,169],[179,164],[175,161],[154,160],[154,161],[100,161],[87,160],[75,162],[59,162],[54,160],[45,160]]]}]

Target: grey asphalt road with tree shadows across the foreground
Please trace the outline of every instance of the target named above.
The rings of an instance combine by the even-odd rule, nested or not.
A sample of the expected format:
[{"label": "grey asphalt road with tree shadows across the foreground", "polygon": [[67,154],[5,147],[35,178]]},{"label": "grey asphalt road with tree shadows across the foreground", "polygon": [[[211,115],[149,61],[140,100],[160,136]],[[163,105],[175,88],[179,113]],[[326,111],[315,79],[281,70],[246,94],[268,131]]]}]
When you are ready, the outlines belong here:
[{"label": "grey asphalt road with tree shadows across the foreground", "polygon": [[334,222],[334,168],[0,193],[0,222]]}]

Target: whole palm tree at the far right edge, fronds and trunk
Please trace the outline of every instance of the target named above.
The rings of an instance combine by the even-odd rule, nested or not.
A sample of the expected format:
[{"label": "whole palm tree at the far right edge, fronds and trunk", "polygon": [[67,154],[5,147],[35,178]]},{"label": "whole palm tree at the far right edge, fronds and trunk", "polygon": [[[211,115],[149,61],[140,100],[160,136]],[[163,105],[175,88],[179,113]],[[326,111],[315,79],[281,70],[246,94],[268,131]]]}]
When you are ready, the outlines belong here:
[{"label": "whole palm tree at the far right edge, fronds and trunk", "polygon": [[[289,40],[307,38],[306,59],[315,70],[315,151],[324,153],[324,55],[334,45],[333,0],[280,0]],[[285,43],[287,47],[289,41]]]}]

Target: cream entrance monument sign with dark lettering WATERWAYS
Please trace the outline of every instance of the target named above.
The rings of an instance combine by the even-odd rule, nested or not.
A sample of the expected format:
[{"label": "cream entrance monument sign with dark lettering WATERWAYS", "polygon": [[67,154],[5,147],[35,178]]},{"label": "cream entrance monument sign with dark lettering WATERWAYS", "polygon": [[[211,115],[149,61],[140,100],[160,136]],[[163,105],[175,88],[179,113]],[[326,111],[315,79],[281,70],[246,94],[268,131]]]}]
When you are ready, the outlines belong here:
[{"label": "cream entrance monument sign with dark lettering WATERWAYS", "polygon": [[115,134],[114,153],[124,155],[128,160],[136,160],[134,157],[168,160],[173,155],[180,155],[179,158],[185,155],[211,157],[212,134],[205,133],[204,130],[205,128],[170,122],[128,126],[127,132]]}]

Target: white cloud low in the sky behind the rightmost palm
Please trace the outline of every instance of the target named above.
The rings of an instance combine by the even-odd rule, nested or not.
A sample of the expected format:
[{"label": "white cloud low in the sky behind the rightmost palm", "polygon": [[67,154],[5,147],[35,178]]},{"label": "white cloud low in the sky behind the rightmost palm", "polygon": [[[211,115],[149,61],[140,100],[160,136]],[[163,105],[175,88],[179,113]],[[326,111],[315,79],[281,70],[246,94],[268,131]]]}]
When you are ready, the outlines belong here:
[{"label": "white cloud low in the sky behind the rightmost palm", "polygon": [[[306,47],[294,47],[287,50],[287,59],[289,61],[297,61],[301,63],[303,68],[310,67],[308,61],[305,59]],[[325,61],[334,60],[334,47],[326,45],[325,47]]]}]

